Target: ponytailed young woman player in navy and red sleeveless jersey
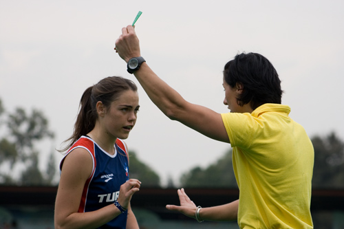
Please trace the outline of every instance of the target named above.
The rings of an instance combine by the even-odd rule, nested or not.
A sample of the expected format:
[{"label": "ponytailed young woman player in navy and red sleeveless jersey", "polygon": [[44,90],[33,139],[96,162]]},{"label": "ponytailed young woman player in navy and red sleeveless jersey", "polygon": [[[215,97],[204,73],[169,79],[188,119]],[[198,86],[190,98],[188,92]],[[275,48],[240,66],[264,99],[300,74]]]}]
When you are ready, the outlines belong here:
[{"label": "ponytailed young woman player in navy and red sleeveless jersey", "polygon": [[61,161],[55,228],[138,228],[130,200],[141,182],[129,179],[123,139],[139,109],[136,85],[112,76],[85,90]]}]

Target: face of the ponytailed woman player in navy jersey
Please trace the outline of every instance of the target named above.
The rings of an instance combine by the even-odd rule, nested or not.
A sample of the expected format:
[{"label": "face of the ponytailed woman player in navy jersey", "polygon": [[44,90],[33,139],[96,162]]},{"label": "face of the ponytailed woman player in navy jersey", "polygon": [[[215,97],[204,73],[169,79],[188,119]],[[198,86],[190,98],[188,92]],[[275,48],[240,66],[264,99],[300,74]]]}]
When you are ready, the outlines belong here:
[{"label": "face of the ponytailed woman player in navy jersey", "polygon": [[123,91],[119,98],[105,110],[102,127],[108,135],[114,138],[126,139],[136,124],[138,92],[131,89]]}]

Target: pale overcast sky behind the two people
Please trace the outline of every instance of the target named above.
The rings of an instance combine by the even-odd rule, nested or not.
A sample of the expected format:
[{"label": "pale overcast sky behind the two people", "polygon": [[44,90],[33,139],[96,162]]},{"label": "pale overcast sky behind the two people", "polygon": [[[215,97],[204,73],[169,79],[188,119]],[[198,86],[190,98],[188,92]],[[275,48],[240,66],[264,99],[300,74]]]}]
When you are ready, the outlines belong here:
[{"label": "pale overcast sky behind the two people", "polygon": [[[342,0],[1,0],[5,108],[43,111],[56,134],[52,147],[58,148],[72,133],[87,87],[115,75],[138,84],[114,42],[139,10],[142,56],[189,102],[228,112],[222,103],[224,64],[239,52],[258,52],[275,65],[282,102],[310,137],[335,131],[344,139]],[[166,118],[138,86],[141,108],[126,142],[163,182],[215,162],[230,148]],[[42,163],[49,152],[42,152]]]}]

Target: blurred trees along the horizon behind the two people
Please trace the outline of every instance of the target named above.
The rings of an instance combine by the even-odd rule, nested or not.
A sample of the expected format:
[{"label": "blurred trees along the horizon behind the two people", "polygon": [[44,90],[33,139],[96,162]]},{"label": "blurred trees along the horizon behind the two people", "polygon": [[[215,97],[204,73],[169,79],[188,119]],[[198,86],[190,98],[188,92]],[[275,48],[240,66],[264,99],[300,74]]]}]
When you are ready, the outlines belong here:
[{"label": "blurred trees along the horizon behind the two people", "polygon": [[[50,150],[45,168],[39,168],[40,155],[46,152],[39,152],[36,145],[43,140],[54,140],[43,112],[37,109],[28,112],[18,107],[11,113],[4,109],[0,99],[0,185],[57,185],[54,182],[58,174],[54,149]],[[313,188],[344,188],[343,140],[334,132],[315,135],[311,140],[315,153]],[[129,151],[129,160],[131,177],[140,179],[145,187],[161,187],[158,173],[142,162],[136,152]],[[205,168],[191,168],[180,177],[178,185],[171,178],[167,183],[168,188],[237,188],[232,150],[228,147],[221,158]]]}]

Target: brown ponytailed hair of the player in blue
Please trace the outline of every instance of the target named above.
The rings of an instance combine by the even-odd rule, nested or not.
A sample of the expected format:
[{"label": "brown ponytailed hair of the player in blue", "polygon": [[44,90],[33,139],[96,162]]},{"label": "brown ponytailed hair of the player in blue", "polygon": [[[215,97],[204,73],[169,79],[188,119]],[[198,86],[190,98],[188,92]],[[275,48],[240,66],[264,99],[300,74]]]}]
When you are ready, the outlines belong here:
[{"label": "brown ponytailed hair of the player in blue", "polygon": [[66,151],[82,135],[86,135],[89,131],[94,129],[98,118],[98,113],[96,111],[96,104],[98,101],[102,102],[105,108],[108,109],[111,102],[117,100],[123,91],[129,89],[138,91],[138,87],[136,87],[133,81],[120,76],[103,78],[103,80],[100,80],[96,85],[87,88],[83,96],[81,96],[79,112],[74,124],[74,133],[70,138],[64,141],[69,142],[69,144],[59,151]]}]

